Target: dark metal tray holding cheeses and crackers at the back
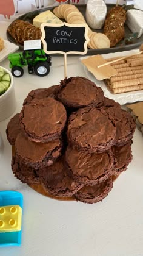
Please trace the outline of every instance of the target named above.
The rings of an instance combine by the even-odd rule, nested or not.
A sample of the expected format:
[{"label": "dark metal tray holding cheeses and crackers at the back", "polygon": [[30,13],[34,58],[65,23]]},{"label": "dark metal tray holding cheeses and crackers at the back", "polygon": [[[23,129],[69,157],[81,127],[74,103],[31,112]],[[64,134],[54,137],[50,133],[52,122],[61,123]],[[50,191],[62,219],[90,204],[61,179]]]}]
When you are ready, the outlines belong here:
[{"label": "dark metal tray holding cheeses and crackers at the back", "polygon": [[[79,9],[79,11],[84,15],[85,17],[85,10],[86,10],[86,5],[76,5]],[[115,4],[107,4],[107,12],[111,8],[115,7]],[[45,12],[46,10],[53,10],[55,7],[48,7],[45,9],[41,10],[36,10],[33,12],[26,13],[22,16],[19,16],[18,19],[24,20],[24,21],[29,21],[32,23],[33,18],[35,18],[36,15],[38,15],[41,12]],[[16,19],[16,20],[18,20]],[[93,29],[92,29],[93,30]],[[96,29],[93,30],[95,32],[102,32],[102,29]],[[128,35],[131,34],[131,30],[126,26],[125,24],[125,37],[128,37]],[[11,37],[10,34],[7,32],[7,39],[8,41],[15,43],[19,46],[19,48],[23,49],[23,46],[21,44],[16,43],[13,37]],[[135,38],[135,41],[133,44],[128,44],[128,45],[123,45],[123,41],[120,41],[118,44],[116,44],[115,47],[112,48],[104,48],[104,49],[88,49],[87,55],[95,55],[95,54],[107,54],[109,52],[119,52],[119,51],[128,51],[131,49],[139,48],[139,46],[143,43],[143,35],[141,35],[140,38]]]}]

